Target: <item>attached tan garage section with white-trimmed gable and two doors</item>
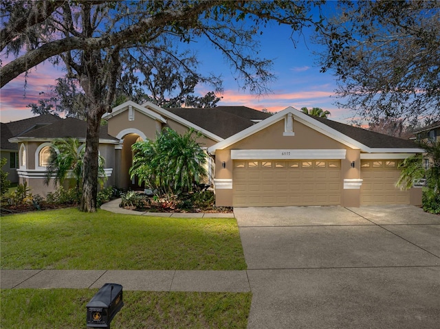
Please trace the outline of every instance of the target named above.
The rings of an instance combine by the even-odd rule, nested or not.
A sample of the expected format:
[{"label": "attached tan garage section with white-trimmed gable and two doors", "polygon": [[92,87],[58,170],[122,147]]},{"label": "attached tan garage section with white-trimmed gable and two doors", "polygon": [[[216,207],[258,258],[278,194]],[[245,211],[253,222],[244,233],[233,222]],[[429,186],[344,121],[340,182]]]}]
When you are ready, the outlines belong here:
[{"label": "attached tan garage section with white-trimmed gable and two doors", "polygon": [[287,108],[208,148],[217,206],[419,205],[395,187],[413,141]]}]

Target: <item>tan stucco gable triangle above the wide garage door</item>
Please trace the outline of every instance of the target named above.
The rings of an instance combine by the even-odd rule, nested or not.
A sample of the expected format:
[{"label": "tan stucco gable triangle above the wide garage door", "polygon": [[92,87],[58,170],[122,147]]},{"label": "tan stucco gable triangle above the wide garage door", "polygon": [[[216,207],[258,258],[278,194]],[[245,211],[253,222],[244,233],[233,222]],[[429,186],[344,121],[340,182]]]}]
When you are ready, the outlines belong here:
[{"label": "tan stucco gable triangle above the wide garage door", "polygon": [[294,120],[294,136],[283,136],[284,120],[278,121],[254,135],[232,144],[228,149],[338,149],[348,147]]}]

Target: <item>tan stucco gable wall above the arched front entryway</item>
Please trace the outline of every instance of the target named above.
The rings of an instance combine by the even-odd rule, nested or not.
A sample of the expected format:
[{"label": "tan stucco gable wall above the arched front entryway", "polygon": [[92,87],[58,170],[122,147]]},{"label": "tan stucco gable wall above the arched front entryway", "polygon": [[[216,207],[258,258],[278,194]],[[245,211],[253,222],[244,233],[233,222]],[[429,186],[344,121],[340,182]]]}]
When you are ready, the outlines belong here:
[{"label": "tan stucco gable wall above the arched front entryway", "polygon": [[142,131],[148,139],[155,139],[157,133],[157,121],[143,113],[135,111],[135,120],[129,121],[129,111],[124,111],[108,120],[109,135],[117,136],[126,129]]}]

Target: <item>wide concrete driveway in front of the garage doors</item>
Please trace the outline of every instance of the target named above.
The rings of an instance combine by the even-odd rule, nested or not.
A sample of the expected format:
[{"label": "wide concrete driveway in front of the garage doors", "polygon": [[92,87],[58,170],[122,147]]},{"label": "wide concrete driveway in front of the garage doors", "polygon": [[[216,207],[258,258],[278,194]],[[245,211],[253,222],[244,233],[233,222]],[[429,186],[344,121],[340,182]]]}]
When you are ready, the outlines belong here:
[{"label": "wide concrete driveway in front of the garage doors", "polygon": [[412,206],[234,214],[248,328],[440,328],[440,216]]}]

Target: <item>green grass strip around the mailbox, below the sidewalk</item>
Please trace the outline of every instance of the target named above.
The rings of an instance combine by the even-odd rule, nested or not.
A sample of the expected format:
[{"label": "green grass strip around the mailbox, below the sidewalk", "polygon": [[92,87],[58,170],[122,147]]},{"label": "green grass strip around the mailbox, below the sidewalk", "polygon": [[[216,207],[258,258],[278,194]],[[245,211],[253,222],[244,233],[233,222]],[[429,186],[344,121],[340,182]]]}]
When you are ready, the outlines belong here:
[{"label": "green grass strip around the mailbox, below the sidewalk", "polygon": [[[97,289],[3,289],[1,328],[85,328]],[[124,291],[111,328],[246,328],[251,293]]]}]

